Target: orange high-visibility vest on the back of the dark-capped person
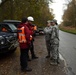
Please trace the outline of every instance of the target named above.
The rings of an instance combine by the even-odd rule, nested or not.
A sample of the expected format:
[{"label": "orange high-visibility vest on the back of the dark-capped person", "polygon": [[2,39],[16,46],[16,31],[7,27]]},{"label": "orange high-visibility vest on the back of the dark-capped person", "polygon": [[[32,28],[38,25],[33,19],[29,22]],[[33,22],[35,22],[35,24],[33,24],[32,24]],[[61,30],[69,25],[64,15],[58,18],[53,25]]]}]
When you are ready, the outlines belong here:
[{"label": "orange high-visibility vest on the back of the dark-capped person", "polygon": [[18,41],[19,43],[26,43],[24,27],[18,28]]}]

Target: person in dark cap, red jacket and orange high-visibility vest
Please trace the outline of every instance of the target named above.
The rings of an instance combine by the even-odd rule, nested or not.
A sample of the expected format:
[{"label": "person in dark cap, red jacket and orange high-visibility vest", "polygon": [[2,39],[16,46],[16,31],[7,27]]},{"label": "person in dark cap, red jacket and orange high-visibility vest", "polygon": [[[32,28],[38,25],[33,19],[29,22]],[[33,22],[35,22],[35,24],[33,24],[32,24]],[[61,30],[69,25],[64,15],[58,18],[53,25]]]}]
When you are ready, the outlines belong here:
[{"label": "person in dark cap, red jacket and orange high-visibility vest", "polygon": [[18,26],[18,41],[20,46],[20,65],[21,70],[25,72],[32,71],[28,67],[28,50],[30,46],[30,31],[27,27],[27,18],[22,18],[22,23]]}]

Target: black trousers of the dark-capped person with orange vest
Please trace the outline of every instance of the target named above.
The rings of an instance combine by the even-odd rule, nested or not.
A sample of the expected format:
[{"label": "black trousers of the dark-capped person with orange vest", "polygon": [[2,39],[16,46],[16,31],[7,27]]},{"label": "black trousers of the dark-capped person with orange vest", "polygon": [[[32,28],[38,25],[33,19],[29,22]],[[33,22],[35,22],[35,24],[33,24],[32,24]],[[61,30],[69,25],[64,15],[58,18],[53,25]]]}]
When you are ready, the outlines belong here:
[{"label": "black trousers of the dark-capped person with orange vest", "polygon": [[28,66],[28,48],[27,49],[20,49],[20,65],[21,68],[27,68]]}]

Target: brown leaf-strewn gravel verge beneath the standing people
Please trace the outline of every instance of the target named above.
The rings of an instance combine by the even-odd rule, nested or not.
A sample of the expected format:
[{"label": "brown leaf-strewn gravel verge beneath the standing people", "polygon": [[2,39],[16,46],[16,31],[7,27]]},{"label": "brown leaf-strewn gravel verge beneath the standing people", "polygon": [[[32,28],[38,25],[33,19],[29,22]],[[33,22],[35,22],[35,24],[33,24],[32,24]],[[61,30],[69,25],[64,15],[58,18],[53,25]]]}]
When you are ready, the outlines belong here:
[{"label": "brown leaf-strewn gravel verge beneath the standing people", "polygon": [[[44,36],[37,36],[34,41],[35,54],[39,58],[28,62],[32,72],[24,73],[20,69],[20,50],[4,56],[0,59],[0,75],[66,75],[64,60],[61,59],[58,66],[50,65],[50,59],[46,59],[47,50]],[[30,52],[29,52],[30,54]]]}]

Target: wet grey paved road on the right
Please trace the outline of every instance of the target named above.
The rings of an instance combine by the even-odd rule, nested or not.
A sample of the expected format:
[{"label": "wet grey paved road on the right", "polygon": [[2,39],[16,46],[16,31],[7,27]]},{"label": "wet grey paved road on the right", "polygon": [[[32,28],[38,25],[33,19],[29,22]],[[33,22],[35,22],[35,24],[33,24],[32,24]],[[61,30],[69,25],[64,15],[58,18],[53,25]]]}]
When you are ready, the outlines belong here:
[{"label": "wet grey paved road on the right", "polygon": [[60,53],[65,58],[68,75],[76,75],[76,35],[59,31]]}]

